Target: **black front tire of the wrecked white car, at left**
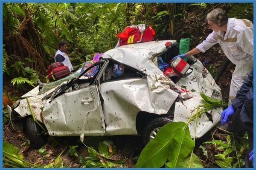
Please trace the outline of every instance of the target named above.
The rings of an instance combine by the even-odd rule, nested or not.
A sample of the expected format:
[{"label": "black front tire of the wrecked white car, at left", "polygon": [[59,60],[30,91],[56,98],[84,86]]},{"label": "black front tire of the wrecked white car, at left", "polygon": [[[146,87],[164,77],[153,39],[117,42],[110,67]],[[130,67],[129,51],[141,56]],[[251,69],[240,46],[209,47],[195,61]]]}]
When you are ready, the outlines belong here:
[{"label": "black front tire of the wrecked white car, at left", "polygon": [[42,134],[41,127],[30,116],[26,119],[26,134],[32,148],[38,149],[45,144],[45,136]]}]

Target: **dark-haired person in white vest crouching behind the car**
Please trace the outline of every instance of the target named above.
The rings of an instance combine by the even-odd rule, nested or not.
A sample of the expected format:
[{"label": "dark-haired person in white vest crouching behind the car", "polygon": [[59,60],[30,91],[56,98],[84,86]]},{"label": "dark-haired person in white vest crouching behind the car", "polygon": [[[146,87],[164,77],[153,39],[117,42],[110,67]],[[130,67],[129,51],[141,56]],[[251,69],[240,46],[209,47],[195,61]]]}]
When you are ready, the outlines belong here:
[{"label": "dark-haired person in white vest crouching behind the car", "polygon": [[59,42],[58,44],[59,49],[54,56],[54,60],[55,62],[62,62],[64,65],[68,67],[70,71],[73,71],[74,70],[73,65],[71,64],[70,59],[66,54],[67,45],[68,43],[66,41]]}]

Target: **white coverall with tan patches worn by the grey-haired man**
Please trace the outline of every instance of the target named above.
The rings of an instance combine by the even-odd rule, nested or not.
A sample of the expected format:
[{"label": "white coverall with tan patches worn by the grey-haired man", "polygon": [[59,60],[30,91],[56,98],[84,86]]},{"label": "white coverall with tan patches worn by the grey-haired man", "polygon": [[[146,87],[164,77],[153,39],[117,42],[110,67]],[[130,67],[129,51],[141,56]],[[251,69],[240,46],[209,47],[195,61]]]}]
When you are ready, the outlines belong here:
[{"label": "white coverall with tan patches worn by the grey-haired man", "polygon": [[205,52],[216,43],[227,58],[236,65],[230,83],[229,104],[253,69],[253,23],[246,19],[229,18],[227,31],[212,31],[196,48]]}]

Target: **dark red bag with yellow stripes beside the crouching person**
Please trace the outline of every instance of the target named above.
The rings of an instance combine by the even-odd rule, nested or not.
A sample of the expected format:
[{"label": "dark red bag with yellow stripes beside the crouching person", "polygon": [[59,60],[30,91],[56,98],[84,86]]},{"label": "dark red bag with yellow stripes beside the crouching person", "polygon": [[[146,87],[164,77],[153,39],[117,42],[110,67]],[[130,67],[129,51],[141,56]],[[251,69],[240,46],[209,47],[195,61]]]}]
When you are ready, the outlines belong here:
[{"label": "dark red bag with yellow stripes beside the crouching person", "polygon": [[[48,70],[48,69],[47,69]],[[47,82],[54,82],[58,79],[64,78],[70,74],[70,70],[67,66],[58,66],[48,72],[46,76]]]}]

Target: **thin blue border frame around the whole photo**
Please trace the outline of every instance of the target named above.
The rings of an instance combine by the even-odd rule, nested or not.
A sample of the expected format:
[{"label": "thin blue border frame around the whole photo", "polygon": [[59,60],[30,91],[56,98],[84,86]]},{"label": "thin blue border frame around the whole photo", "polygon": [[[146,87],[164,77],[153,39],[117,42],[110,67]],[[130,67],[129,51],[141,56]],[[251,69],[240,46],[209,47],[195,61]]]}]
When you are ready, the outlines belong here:
[{"label": "thin blue border frame around the whole photo", "polygon": [[[253,3],[253,14],[255,14],[256,10],[256,0],[2,0],[0,2],[0,28],[3,30],[3,3],[67,3],[67,2],[73,2],[73,3]],[[253,15],[255,16],[255,15]],[[255,23],[256,23],[256,17],[253,17],[253,23],[254,23],[254,29],[255,29]],[[256,39],[256,35],[253,35],[254,40]],[[2,47],[0,48],[0,59],[3,61],[3,32],[0,31],[0,44]],[[255,46],[255,43],[254,43]],[[255,49],[255,48],[254,48]],[[256,52],[254,51],[253,55],[255,56]],[[253,60],[253,67],[256,66],[255,60]],[[3,62],[0,64],[0,70],[3,73]],[[256,75],[256,69],[253,70],[253,74]],[[254,83],[256,80],[253,81]],[[0,96],[3,95],[3,74],[0,74]],[[256,86],[253,87],[253,91],[256,91]],[[256,94],[253,95],[254,100],[253,102],[256,102],[255,99]],[[0,99],[3,103],[3,98]],[[3,104],[0,105],[0,111],[3,113]],[[253,109],[253,114],[256,115],[256,109]],[[0,122],[3,122],[3,114],[0,116]],[[256,122],[256,117],[254,116],[253,122]],[[3,125],[3,123],[1,123]],[[255,136],[255,130],[256,125],[253,124],[253,148],[256,147],[256,136]],[[3,150],[3,126],[0,127],[0,136],[2,137],[2,140],[0,141],[0,151]],[[3,154],[0,154],[0,160],[1,165],[3,168]],[[254,164],[255,164],[255,158],[254,158]],[[6,168],[4,168],[6,169]],[[12,168],[12,169],[22,169],[22,168]],[[40,168],[41,169],[41,168]],[[57,169],[57,168],[54,168]],[[120,168],[117,168],[120,169]],[[138,168],[133,168],[134,170]],[[147,168],[147,169],[154,169],[154,168]],[[196,168],[199,169],[199,168]],[[215,169],[215,168],[209,168],[209,169]],[[226,168],[224,168],[226,169]],[[249,169],[249,168],[243,168],[243,169]]]}]

